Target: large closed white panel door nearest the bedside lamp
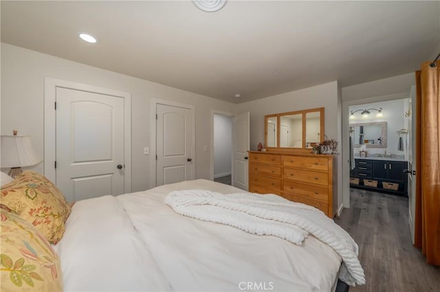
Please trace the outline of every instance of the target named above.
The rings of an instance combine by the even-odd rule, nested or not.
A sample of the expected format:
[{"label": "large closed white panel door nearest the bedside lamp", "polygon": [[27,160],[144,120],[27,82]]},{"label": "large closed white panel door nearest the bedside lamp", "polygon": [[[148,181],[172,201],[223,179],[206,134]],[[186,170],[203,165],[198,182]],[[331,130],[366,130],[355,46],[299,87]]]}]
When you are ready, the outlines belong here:
[{"label": "large closed white panel door nearest the bedside lamp", "polygon": [[56,186],[68,201],[124,193],[122,97],[56,88]]}]

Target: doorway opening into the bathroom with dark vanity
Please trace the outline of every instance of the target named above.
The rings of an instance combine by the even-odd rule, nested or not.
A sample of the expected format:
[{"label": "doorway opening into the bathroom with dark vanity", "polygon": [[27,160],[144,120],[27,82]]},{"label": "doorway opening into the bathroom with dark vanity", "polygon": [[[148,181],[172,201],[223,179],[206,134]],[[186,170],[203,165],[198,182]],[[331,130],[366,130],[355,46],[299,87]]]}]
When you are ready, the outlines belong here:
[{"label": "doorway opening into the bathroom with dark vanity", "polygon": [[[391,96],[364,99],[362,104],[359,101],[343,103],[346,117],[342,155],[343,161],[347,162],[343,167],[343,202],[346,208],[350,206],[350,191],[353,186],[363,191],[411,197],[411,178],[403,173],[404,169],[411,169],[410,152],[413,151],[413,142],[409,135],[411,121],[408,112],[411,112],[411,102],[408,94],[409,92],[393,95],[394,99]],[[364,113],[365,110],[370,114]],[[376,124],[382,123],[385,124],[382,125],[382,132],[373,131]],[[385,132],[383,127],[386,127]],[[365,148],[362,149],[362,146]],[[358,165],[361,160],[364,165]],[[365,180],[369,184],[365,184]]]}]

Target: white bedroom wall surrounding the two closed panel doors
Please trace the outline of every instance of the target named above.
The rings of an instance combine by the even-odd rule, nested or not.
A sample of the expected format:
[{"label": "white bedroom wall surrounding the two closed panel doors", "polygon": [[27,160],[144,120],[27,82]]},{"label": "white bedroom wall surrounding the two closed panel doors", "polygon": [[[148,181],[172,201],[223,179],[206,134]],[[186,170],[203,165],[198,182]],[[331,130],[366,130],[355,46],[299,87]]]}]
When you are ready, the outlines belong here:
[{"label": "white bedroom wall surrounding the two closed panel doors", "polygon": [[[131,93],[132,191],[152,187],[148,173],[155,161],[153,155],[143,154],[150,146],[151,99],[195,106],[195,176],[210,178],[210,110],[230,112],[234,104],[1,43],[1,134],[18,129],[19,134],[30,135],[41,157],[45,77]],[[43,163],[31,169],[43,173]]]}]

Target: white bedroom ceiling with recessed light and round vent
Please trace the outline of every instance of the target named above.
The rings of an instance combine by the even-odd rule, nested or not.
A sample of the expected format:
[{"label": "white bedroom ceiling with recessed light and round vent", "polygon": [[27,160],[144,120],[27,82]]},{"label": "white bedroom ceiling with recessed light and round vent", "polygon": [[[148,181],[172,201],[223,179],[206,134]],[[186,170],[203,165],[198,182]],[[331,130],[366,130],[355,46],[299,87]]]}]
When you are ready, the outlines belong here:
[{"label": "white bedroom ceiling with recessed light and round vent", "polygon": [[202,12],[190,1],[1,1],[1,41],[240,103],[415,71],[440,53],[439,7],[230,0]]}]

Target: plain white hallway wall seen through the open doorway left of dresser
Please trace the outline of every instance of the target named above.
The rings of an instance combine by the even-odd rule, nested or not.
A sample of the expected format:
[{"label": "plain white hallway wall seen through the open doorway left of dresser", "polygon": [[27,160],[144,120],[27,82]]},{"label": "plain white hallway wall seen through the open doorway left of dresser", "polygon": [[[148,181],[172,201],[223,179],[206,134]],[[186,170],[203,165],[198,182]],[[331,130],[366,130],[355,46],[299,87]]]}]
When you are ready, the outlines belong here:
[{"label": "plain white hallway wall seen through the open doorway left of dresser", "polygon": [[230,175],[232,169],[232,118],[214,114],[214,178]]}]

